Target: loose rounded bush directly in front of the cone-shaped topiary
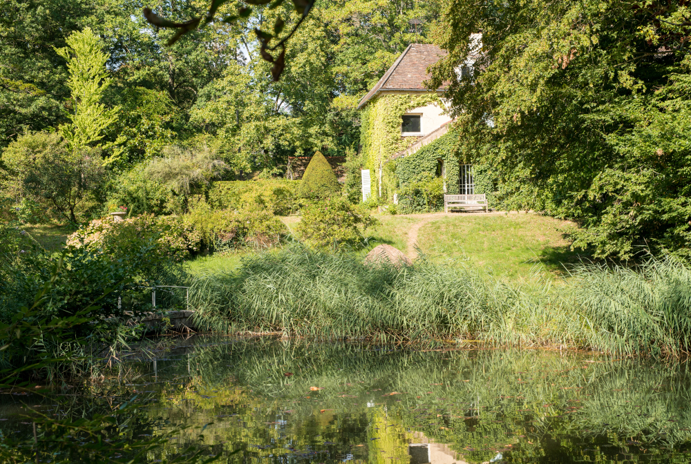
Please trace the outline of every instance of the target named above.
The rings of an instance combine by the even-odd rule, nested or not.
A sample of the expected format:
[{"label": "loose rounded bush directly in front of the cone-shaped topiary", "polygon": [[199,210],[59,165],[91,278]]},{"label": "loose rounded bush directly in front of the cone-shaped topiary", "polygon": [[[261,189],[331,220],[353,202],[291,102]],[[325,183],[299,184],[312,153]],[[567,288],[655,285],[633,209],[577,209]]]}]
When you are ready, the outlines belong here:
[{"label": "loose rounded bush directly in front of the cone-shaped topiary", "polygon": [[362,231],[379,224],[365,206],[353,205],[343,197],[303,209],[297,226],[301,238],[314,247],[345,249],[361,244]]}]

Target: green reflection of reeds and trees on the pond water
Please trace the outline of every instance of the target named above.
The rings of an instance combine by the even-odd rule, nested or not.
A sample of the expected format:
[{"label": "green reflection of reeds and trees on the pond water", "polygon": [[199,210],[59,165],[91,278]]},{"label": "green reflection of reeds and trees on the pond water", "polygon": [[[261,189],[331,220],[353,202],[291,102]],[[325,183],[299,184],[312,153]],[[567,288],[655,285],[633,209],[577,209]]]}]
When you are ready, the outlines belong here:
[{"label": "green reflection of reeds and trees on the pond water", "polygon": [[[209,445],[245,443],[245,458],[405,459],[413,432],[448,443],[468,462],[498,451],[519,461],[546,449],[571,456],[584,447],[593,458],[613,458],[639,453],[632,443],[686,446],[690,437],[689,376],[678,365],[265,338],[197,346],[192,359],[186,392],[148,414],[185,425],[215,421]],[[171,361],[167,375],[186,369]],[[394,391],[405,393],[382,396]]]}]

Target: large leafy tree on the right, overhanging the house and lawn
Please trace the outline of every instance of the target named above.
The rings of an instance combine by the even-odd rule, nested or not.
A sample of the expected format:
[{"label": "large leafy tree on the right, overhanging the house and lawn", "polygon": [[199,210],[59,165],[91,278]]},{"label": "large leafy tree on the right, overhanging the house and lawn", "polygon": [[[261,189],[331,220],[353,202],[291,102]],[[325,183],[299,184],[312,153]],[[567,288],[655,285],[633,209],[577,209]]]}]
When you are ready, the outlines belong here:
[{"label": "large leafy tree on the right, overhanging the house and lawn", "polygon": [[448,3],[435,36],[448,55],[429,86],[448,82],[462,156],[494,175],[504,208],[577,220],[574,246],[598,257],[641,246],[688,253],[682,3]]}]

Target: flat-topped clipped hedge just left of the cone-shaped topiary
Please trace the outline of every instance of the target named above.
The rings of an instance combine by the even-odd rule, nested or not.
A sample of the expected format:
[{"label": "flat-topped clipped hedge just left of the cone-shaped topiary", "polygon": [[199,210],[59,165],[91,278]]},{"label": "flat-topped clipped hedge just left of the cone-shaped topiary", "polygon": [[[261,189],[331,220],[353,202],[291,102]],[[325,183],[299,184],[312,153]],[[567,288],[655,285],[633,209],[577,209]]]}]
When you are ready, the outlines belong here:
[{"label": "flat-topped clipped hedge just left of the cone-shaped topiary", "polygon": [[214,182],[209,189],[209,205],[212,209],[257,209],[289,215],[301,207],[296,195],[299,183],[284,179]]}]

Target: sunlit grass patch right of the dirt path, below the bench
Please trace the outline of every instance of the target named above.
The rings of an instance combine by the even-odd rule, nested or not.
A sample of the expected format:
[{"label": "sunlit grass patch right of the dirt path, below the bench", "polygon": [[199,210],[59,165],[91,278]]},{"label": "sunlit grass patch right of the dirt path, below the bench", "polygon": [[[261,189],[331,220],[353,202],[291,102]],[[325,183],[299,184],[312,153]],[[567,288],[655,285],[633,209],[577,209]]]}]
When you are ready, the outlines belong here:
[{"label": "sunlit grass patch right of the dirt path, below the bench", "polygon": [[558,278],[562,263],[583,255],[559,231],[569,224],[532,213],[456,213],[424,224],[418,242],[430,259],[466,262],[497,278]]}]

